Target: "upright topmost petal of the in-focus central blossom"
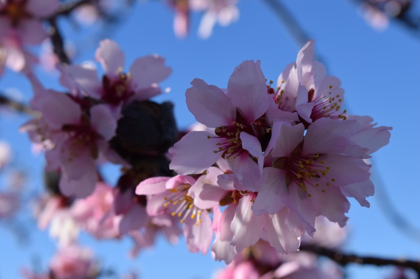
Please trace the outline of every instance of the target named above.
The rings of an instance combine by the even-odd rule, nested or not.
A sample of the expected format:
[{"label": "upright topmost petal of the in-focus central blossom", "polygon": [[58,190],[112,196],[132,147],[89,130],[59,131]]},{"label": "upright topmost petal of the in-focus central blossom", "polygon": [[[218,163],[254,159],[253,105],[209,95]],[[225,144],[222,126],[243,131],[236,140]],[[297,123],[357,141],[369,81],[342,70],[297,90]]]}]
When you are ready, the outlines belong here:
[{"label": "upright topmost petal of the in-focus central blossom", "polygon": [[227,96],[248,123],[267,111],[272,100],[267,94],[260,61],[244,61],[235,68],[227,83]]}]

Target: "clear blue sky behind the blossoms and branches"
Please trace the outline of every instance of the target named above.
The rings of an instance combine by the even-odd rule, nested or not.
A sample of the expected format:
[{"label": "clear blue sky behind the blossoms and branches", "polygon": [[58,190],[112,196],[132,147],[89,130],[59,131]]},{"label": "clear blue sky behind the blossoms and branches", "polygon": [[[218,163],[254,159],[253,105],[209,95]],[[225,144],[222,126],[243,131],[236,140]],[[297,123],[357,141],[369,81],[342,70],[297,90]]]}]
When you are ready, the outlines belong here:
[{"label": "clear blue sky behind the blossoms and branches", "polygon": [[[420,183],[417,178],[420,40],[393,24],[384,32],[373,30],[350,1],[295,0],[286,6],[307,34],[315,39],[316,51],[326,63],[327,73],[341,79],[345,89],[344,107],[353,114],[370,115],[379,125],[393,127],[390,144],[373,155],[375,175],[372,179],[376,194],[386,191],[397,211],[408,222],[420,227]],[[190,35],[180,40],[173,34],[173,12],[164,3],[139,3],[130,17],[108,35],[124,50],[127,67],[143,55],[156,53],[166,58],[173,74],[162,85],[172,90],[157,97],[156,101],[174,102],[178,126],[185,128],[195,121],[187,110],[184,96],[194,78],[226,87],[234,68],[243,60],[253,59],[261,60],[268,80],[277,80],[284,67],[296,60],[301,45],[292,40],[264,1],[242,0],[239,9],[239,21],[226,28],[216,26],[213,36],[207,40],[197,37],[201,15],[194,14]],[[66,22],[61,24],[65,34],[69,34],[69,39],[76,44],[89,36],[88,32],[71,31]],[[95,47],[79,46],[85,49],[75,62],[92,60]],[[47,87],[59,88],[56,76],[48,76],[43,71],[37,74]],[[8,71],[0,78],[0,89],[11,87],[22,91],[26,100],[31,97],[29,83]],[[16,162],[24,164],[33,174],[28,188],[41,189],[39,170],[43,158],[33,157],[27,136],[17,132],[25,119],[2,114],[0,138],[14,143]],[[110,169],[111,180],[115,179],[115,173]],[[381,257],[420,258],[420,236],[416,242],[401,234],[381,210],[378,196],[369,198],[371,208],[362,208],[351,201],[349,238],[344,249]],[[33,231],[28,246],[19,245],[9,230],[0,227],[2,279],[17,278],[19,268],[30,267],[34,255],[39,255],[45,268],[55,249],[46,232],[36,232],[34,223],[27,226]],[[106,266],[121,272],[137,270],[141,278],[146,279],[209,279],[223,266],[214,262],[210,254],[189,253],[183,240],[173,247],[161,239],[153,250],[142,252],[134,260],[127,257],[130,241],[98,243],[88,236],[83,236],[81,241],[93,245]],[[390,269],[352,265],[348,272],[350,278],[383,278]]]}]

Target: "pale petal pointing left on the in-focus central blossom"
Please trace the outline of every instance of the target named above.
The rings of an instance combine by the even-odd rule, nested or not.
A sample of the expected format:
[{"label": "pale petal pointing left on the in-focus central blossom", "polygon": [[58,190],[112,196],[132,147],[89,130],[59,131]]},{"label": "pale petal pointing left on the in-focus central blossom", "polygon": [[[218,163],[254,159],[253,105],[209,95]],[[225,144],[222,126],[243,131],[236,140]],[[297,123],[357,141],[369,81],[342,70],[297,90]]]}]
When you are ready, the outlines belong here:
[{"label": "pale petal pointing left on the in-focus central blossom", "polygon": [[221,156],[214,151],[222,141],[203,131],[187,133],[169,149],[173,155],[169,168],[182,175],[202,173]]}]

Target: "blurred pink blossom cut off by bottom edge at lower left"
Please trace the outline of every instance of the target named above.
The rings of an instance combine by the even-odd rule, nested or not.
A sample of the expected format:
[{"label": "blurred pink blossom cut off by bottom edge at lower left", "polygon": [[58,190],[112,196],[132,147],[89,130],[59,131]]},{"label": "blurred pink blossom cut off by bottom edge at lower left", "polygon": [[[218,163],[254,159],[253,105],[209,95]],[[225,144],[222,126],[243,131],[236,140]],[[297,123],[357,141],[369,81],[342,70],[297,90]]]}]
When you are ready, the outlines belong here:
[{"label": "blurred pink blossom cut off by bottom edge at lower left", "polygon": [[93,279],[99,270],[89,249],[68,246],[61,248],[51,260],[50,272],[56,279]]}]

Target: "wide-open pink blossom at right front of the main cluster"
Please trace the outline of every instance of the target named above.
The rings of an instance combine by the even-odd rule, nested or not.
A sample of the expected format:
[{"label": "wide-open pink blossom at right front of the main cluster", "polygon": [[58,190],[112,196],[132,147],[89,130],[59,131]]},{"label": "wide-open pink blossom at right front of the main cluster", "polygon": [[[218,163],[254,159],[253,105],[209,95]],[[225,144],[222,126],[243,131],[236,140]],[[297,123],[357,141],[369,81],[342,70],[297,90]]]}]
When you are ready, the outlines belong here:
[{"label": "wide-open pink blossom at right front of the main cluster", "polygon": [[[351,141],[358,129],[355,120],[322,118],[311,124],[304,135],[303,124],[291,126],[276,121],[264,154],[267,167],[260,179],[254,212],[274,214],[289,207],[310,235],[319,215],[344,226],[350,207],[345,195],[363,204],[373,193],[370,166],[363,156],[347,155],[360,148]],[[360,185],[342,190],[354,183]]]}]

